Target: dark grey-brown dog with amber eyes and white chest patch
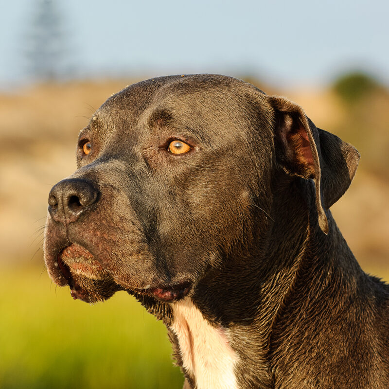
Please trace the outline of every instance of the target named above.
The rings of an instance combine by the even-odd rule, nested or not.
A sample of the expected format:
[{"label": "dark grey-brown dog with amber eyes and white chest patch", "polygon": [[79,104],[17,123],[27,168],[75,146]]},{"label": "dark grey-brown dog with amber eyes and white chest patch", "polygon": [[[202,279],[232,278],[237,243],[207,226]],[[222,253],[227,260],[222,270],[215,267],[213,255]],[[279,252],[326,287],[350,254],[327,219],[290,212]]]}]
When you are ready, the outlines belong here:
[{"label": "dark grey-brown dog with amber eyes and white chest patch", "polygon": [[87,302],[125,290],[165,323],[184,388],[389,388],[389,286],[329,211],[357,150],[235,78],[111,96],[49,194],[49,275]]}]

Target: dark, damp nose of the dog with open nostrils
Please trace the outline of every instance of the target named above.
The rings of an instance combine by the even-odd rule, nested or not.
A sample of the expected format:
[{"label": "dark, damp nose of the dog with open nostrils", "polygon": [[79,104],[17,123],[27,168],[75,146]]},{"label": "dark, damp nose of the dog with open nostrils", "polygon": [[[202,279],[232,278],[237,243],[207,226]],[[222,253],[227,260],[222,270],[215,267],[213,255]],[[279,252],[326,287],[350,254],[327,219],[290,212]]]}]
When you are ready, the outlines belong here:
[{"label": "dark, damp nose of the dog with open nostrils", "polygon": [[49,213],[55,221],[75,222],[97,200],[98,191],[87,180],[68,178],[55,184],[49,194]]}]

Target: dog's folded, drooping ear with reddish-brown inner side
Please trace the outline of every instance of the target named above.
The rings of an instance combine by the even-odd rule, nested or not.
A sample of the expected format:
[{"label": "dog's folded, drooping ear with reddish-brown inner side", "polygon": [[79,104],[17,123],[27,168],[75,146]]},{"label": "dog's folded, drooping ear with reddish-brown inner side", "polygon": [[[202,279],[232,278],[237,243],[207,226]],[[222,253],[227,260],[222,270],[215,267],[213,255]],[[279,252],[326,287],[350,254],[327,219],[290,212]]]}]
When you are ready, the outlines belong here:
[{"label": "dog's folded, drooping ear with reddish-brown inner side", "polygon": [[351,144],[317,129],[300,106],[283,97],[269,99],[275,110],[276,158],[288,174],[313,178],[318,224],[327,234],[324,209],[330,208],[350,186],[359,153]]}]

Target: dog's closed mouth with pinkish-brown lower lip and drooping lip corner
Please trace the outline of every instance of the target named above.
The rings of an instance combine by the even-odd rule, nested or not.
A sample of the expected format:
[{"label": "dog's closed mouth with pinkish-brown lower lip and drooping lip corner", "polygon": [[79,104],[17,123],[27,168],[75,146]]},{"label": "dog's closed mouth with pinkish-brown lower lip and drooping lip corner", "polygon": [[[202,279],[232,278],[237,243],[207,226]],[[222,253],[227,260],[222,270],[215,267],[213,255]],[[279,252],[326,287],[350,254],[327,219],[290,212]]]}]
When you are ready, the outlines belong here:
[{"label": "dog's closed mouth with pinkish-brown lower lip and drooping lip corner", "polygon": [[[71,297],[74,300],[85,302],[105,300],[117,290],[124,289],[114,283],[109,273],[86,248],[75,243],[59,251],[56,263],[71,289]],[[132,290],[140,295],[152,296],[159,301],[174,302],[183,299],[189,293],[191,283],[147,285],[145,288],[135,287]]]}]

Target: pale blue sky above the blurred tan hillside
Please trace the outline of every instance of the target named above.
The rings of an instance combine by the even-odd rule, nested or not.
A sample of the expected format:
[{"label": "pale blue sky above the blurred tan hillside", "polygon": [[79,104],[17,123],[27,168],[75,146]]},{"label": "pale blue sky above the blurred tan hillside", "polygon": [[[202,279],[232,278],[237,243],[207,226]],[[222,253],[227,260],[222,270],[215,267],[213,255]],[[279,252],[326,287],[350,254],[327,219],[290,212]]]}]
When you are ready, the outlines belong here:
[{"label": "pale blue sky above the blurred tan hillside", "polygon": [[[31,80],[42,1],[0,0],[0,89]],[[293,87],[363,70],[389,85],[387,0],[52,1],[70,77],[212,72]]]}]

